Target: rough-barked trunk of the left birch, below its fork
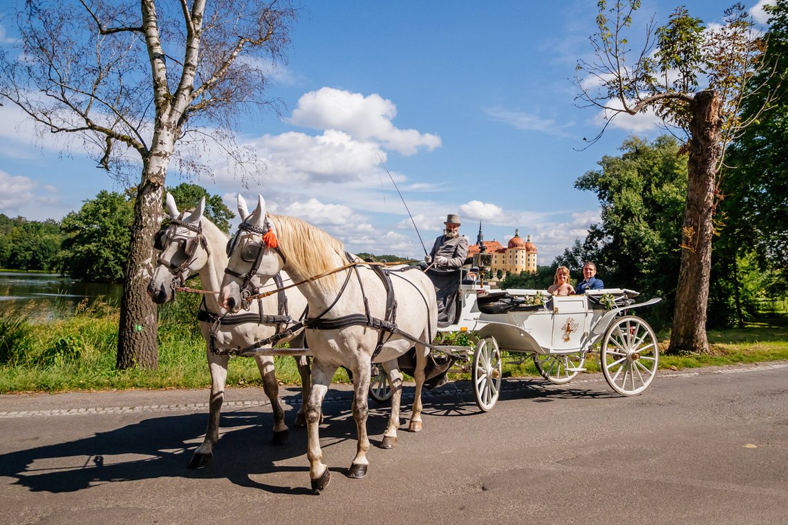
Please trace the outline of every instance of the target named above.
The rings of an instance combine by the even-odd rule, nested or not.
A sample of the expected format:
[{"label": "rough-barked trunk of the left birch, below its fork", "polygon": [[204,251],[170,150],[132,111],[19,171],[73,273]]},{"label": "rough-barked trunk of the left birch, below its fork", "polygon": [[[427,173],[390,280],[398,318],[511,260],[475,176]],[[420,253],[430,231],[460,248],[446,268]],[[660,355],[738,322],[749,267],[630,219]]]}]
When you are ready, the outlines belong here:
[{"label": "rough-barked trunk of the left birch, below its fork", "polygon": [[[157,158],[155,155],[151,157]],[[134,204],[134,226],[117,334],[117,368],[121,369],[158,368],[158,309],[148,297],[146,288],[153,276],[154,250],[151,239],[161,224],[164,190],[162,173],[166,172],[166,164],[163,167],[152,166],[151,157],[145,161]],[[161,162],[159,157],[154,164]]]}]

